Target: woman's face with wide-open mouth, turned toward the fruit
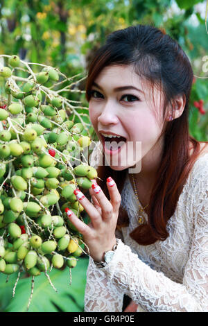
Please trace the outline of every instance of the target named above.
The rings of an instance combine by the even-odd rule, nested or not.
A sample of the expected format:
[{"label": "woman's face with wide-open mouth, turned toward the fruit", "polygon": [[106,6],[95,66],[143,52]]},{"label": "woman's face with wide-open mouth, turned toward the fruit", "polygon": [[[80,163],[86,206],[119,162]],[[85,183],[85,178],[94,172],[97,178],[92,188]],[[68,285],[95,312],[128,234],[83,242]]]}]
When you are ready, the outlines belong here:
[{"label": "woman's face with wide-open mouth, turned toward the fruit", "polygon": [[[152,94],[132,65],[105,67],[94,80],[91,91],[89,117],[103,144],[107,164],[114,170],[123,170],[141,162],[162,131],[161,92],[154,87]],[[103,137],[107,133],[120,135],[125,141]]]}]

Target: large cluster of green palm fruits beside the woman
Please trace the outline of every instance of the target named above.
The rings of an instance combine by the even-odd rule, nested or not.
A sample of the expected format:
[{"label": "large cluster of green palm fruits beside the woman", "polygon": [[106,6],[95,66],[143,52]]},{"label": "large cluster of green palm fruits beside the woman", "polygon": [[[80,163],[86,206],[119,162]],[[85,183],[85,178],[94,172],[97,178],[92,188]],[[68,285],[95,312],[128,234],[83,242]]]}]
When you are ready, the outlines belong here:
[{"label": "large cluster of green palm fruits beside the woman", "polygon": [[34,277],[73,268],[85,244],[65,208],[83,220],[73,191],[87,191],[97,178],[76,160],[92,141],[87,123],[75,122],[80,114],[60,87],[54,90],[64,78],[58,69],[39,65],[33,72],[17,55],[1,56],[7,65],[0,67],[0,271]]}]

